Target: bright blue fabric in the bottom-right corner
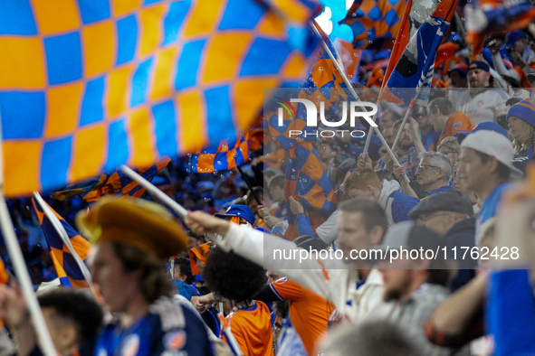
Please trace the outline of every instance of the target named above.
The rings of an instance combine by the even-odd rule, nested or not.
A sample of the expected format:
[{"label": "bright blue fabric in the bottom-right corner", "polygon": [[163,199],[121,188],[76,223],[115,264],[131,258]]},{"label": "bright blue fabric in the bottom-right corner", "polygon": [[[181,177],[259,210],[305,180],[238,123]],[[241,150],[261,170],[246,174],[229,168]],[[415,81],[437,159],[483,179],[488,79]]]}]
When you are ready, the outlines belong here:
[{"label": "bright blue fabric in the bottom-right corner", "polygon": [[535,354],[535,297],[528,270],[494,271],[486,307],[494,355]]}]

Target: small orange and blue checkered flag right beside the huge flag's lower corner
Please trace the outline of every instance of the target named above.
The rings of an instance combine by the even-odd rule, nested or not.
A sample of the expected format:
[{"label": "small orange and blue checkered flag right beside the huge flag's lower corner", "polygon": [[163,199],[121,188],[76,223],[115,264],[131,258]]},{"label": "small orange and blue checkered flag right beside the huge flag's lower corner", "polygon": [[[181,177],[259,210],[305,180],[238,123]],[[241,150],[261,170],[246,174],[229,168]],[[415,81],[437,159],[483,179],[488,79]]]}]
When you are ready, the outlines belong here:
[{"label": "small orange and blue checkered flag right beside the huge flag's lower corner", "polygon": [[240,135],[234,143],[223,140],[219,145],[189,155],[188,171],[214,173],[228,171],[249,161],[249,133]]}]

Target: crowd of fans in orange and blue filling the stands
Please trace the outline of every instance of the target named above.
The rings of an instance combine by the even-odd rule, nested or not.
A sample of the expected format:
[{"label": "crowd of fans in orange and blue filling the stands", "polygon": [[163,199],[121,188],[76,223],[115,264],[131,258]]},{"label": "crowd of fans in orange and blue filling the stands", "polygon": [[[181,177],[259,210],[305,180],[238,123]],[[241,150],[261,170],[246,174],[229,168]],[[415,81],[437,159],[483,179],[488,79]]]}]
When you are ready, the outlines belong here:
[{"label": "crowd of fans in orange and blue filling the stands", "polygon": [[[290,156],[267,124],[263,148],[242,166],[244,175],[190,173],[187,158],[158,173],[153,183],[188,210],[186,219],[148,192],[91,207],[80,197],[47,198],[91,240],[98,297],[61,286],[31,201],[9,201],[56,350],[535,354],[531,48],[535,39],[525,29],[490,36],[481,58],[455,53],[435,68],[428,105],[412,108],[405,124],[406,107],[382,102],[377,124],[387,145],[398,136],[396,160],[377,136],[368,152],[366,137],[314,142],[336,201],[320,223],[291,192]],[[385,69],[373,65],[374,55],[382,58],[370,50],[361,63],[369,70],[355,82],[370,101]],[[387,247],[444,254],[348,258],[352,250]],[[7,271],[0,356],[42,354],[11,258],[0,248]],[[272,258],[275,250],[296,248],[341,250],[344,258]],[[460,258],[464,251],[468,257]]]}]

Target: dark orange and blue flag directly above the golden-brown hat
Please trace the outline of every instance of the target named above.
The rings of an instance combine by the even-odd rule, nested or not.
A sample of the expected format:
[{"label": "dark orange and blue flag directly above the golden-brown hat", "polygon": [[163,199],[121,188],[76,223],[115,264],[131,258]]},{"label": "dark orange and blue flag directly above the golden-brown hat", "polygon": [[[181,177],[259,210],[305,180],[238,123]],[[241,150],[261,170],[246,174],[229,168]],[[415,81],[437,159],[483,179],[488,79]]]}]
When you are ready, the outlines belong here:
[{"label": "dark orange and blue flag directly above the golden-brown hat", "polygon": [[[152,181],[152,178],[162,169],[167,167],[171,162],[169,157],[152,164],[145,168],[135,168],[134,171],[139,173],[143,178]],[[91,181],[68,185],[65,190],[54,192],[52,197],[58,201],[64,201],[75,195],[80,195],[85,201],[98,201],[106,195],[131,196],[135,198],[141,197],[145,192],[145,188],[139,183],[133,181],[129,176],[120,170],[112,174],[100,174],[100,177],[94,178]]]}]

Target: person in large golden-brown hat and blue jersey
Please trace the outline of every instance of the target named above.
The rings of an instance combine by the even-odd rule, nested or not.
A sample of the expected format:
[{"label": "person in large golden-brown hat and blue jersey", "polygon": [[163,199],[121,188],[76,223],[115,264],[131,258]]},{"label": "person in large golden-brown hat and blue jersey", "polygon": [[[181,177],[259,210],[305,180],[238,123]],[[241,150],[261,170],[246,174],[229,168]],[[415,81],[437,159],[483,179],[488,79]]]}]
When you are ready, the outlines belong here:
[{"label": "person in large golden-brown hat and blue jersey", "polygon": [[200,317],[172,299],[164,261],[186,248],[187,237],[169,212],[149,201],[103,198],[79,212],[77,223],[94,242],[92,280],[113,315],[82,356],[214,354]]}]

